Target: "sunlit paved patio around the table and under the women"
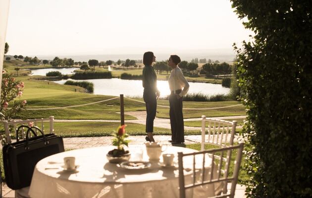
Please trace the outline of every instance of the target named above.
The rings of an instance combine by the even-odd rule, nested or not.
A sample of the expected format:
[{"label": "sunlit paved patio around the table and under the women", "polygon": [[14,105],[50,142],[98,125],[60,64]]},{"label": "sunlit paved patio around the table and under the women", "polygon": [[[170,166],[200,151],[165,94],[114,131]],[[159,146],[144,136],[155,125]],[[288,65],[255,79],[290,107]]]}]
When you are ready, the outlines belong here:
[{"label": "sunlit paved patio around the table and under the women", "polygon": [[[111,145],[113,137],[83,137],[83,138],[63,138],[65,149],[78,149],[88,147],[102,147]],[[236,137],[237,140],[239,137]],[[146,142],[145,136],[130,136],[130,145],[142,145]],[[154,136],[157,142],[168,144],[171,136]],[[201,135],[185,136],[185,144],[196,144],[201,142]],[[178,146],[178,145],[177,145]],[[229,186],[228,186],[229,188]],[[237,185],[235,198],[245,198],[245,186]],[[14,191],[9,189],[6,185],[2,185],[3,198],[14,198]]]}]

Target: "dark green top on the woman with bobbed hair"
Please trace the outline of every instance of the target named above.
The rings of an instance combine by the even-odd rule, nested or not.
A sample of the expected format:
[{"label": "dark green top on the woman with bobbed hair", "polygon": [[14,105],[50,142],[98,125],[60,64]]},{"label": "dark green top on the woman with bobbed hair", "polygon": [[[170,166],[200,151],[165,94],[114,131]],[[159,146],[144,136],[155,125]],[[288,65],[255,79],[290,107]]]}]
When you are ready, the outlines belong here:
[{"label": "dark green top on the woman with bobbed hair", "polygon": [[157,76],[151,65],[144,66],[142,83],[144,89],[157,91]]}]

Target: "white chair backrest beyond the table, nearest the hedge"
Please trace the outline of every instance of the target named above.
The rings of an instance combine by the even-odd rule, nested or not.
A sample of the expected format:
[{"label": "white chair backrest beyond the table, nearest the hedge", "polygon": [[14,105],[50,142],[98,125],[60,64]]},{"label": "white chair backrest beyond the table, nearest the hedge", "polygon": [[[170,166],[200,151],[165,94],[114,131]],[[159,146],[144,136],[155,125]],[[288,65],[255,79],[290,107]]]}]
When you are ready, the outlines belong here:
[{"label": "white chair backrest beyond the table, nearest the hedge", "polygon": [[[206,122],[208,122],[208,134],[206,135]],[[205,144],[213,144],[221,147],[226,143],[233,145],[236,121],[229,122],[226,120],[218,120],[207,118],[202,115],[202,145],[201,150],[205,150]],[[230,134],[229,134],[230,133]]]}]

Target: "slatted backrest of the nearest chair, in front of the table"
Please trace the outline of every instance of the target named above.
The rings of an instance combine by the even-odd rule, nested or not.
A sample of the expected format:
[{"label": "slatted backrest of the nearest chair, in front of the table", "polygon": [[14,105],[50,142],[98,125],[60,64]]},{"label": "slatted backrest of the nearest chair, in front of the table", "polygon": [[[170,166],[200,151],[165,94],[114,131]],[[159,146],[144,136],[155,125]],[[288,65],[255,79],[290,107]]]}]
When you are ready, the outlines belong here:
[{"label": "slatted backrest of the nearest chair, in front of the table", "polygon": [[[215,183],[223,183],[222,191],[220,192],[221,195],[216,195],[214,197],[210,198],[234,198],[235,195],[235,187],[238,180],[238,172],[239,167],[242,160],[242,152],[244,148],[244,143],[240,143],[236,146],[229,146],[224,148],[216,148],[216,149],[210,149],[200,152],[193,152],[193,153],[185,153],[178,152],[178,164],[179,164],[179,192],[180,192],[180,198],[185,198],[185,191],[187,189],[192,189],[199,186],[209,185],[209,184],[215,184]],[[234,150],[237,150],[237,152],[233,152]],[[226,154],[226,158],[223,157],[223,155]],[[232,158],[232,154],[235,155]],[[185,184],[185,178],[184,178],[184,168],[183,168],[183,157],[185,156],[193,156],[193,182],[191,184]],[[196,171],[198,171],[195,167],[196,164],[196,155],[203,155],[203,161],[200,162],[202,164],[201,166],[201,178],[199,180],[196,179]],[[205,166],[205,158],[210,157],[211,158],[211,167],[209,169],[206,169],[207,166]],[[207,160],[207,159],[206,159]],[[233,163],[232,163],[233,162]],[[233,173],[229,176],[229,169],[230,166],[234,166]],[[213,174],[213,170],[216,169],[216,175]],[[208,174],[206,174],[205,171],[209,171]],[[208,176],[207,176],[208,175]],[[208,178],[206,178],[208,177]],[[227,193],[227,183],[231,182],[231,190],[230,193]],[[194,190],[194,189],[193,189]]]}]

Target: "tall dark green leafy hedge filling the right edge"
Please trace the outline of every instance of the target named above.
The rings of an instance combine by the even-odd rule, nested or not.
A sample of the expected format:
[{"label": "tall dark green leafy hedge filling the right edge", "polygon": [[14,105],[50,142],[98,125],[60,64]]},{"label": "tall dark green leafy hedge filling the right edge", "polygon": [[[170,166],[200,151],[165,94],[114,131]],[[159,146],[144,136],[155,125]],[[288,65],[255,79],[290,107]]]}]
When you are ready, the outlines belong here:
[{"label": "tall dark green leafy hedge filling the right edge", "polygon": [[252,198],[312,197],[312,1],[231,0],[251,43],[237,49]]}]

